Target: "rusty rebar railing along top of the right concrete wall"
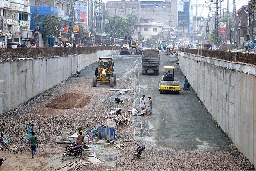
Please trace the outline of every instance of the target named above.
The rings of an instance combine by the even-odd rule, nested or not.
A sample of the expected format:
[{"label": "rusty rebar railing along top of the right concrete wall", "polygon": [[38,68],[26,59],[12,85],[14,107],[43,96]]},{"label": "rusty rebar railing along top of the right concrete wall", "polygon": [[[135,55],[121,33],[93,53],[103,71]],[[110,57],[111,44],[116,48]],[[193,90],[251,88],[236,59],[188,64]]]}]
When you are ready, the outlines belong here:
[{"label": "rusty rebar railing along top of the right concrete wall", "polygon": [[248,64],[256,65],[256,54],[251,53],[242,53],[242,52],[225,52],[225,51],[211,51],[211,50],[204,50],[204,49],[188,49],[179,47],[179,51],[186,52],[194,55],[200,55],[205,57],[223,59],[227,61],[233,62],[244,62]]}]

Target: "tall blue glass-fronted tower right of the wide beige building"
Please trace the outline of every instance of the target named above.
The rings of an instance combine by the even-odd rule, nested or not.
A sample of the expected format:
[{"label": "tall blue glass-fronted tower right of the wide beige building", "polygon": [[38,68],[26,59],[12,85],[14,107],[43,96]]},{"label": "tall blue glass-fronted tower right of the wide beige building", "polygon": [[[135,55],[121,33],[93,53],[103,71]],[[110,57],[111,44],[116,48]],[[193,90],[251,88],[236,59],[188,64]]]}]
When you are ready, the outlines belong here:
[{"label": "tall blue glass-fronted tower right of the wide beige building", "polygon": [[[177,38],[182,40],[184,33],[184,40],[192,41],[193,31],[193,2],[182,1],[184,3],[184,10],[178,12],[178,32]],[[184,27],[184,28],[183,28]]]}]

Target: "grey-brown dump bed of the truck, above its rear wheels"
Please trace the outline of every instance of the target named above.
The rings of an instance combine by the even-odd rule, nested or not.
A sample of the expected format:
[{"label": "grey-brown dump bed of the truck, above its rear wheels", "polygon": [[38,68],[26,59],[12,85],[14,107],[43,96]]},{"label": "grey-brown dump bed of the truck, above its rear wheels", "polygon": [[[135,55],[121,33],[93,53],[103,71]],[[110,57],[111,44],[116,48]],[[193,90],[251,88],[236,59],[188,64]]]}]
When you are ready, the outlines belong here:
[{"label": "grey-brown dump bed of the truck, above its rear wheels", "polygon": [[142,66],[159,66],[159,50],[158,49],[143,49],[142,51]]}]

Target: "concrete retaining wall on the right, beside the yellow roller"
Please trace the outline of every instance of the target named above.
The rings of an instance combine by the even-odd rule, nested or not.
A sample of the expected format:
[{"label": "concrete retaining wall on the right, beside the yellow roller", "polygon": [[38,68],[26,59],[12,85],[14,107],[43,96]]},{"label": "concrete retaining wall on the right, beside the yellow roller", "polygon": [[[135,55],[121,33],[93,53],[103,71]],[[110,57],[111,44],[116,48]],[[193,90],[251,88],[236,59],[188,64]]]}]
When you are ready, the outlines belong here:
[{"label": "concrete retaining wall on the right, beside the yellow roller", "polygon": [[256,165],[256,66],[179,52],[184,76],[236,147]]}]

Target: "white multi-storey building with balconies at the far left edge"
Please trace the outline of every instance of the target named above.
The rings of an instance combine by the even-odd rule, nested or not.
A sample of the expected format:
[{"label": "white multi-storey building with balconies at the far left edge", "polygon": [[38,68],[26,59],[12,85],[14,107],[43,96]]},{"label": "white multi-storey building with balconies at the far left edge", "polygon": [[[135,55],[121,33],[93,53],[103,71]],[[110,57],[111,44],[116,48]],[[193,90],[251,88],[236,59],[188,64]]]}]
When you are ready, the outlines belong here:
[{"label": "white multi-storey building with balconies at the far left edge", "polygon": [[0,0],[1,32],[8,36],[0,37],[0,41],[25,42],[30,46],[32,32],[30,29],[30,2],[29,0]]}]

